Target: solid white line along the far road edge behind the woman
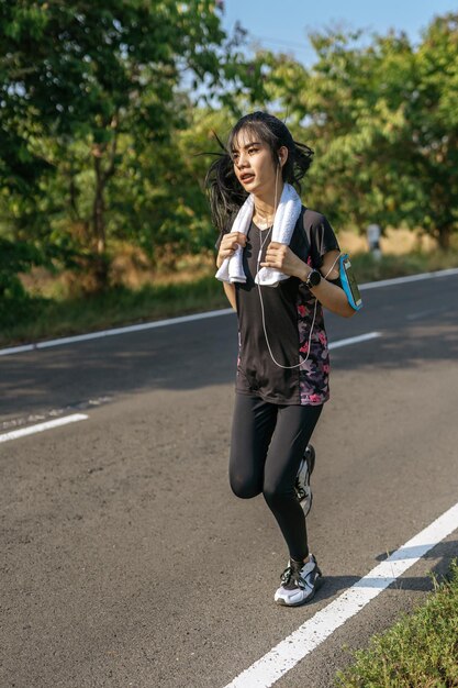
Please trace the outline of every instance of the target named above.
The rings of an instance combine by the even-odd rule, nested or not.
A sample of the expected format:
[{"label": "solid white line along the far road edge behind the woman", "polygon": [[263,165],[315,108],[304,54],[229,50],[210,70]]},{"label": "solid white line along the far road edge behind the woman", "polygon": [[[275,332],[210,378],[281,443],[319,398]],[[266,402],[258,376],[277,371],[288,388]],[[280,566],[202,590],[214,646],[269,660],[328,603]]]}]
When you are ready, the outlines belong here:
[{"label": "solid white line along the far road edge behind the woman", "polygon": [[[379,281],[366,282],[365,285],[360,286],[360,289],[378,289],[379,287],[390,287],[391,285],[402,285],[404,282],[418,281],[420,279],[433,279],[436,277],[449,277],[451,275],[458,275],[458,268],[450,268],[436,273],[422,273],[421,275],[410,275],[407,277],[396,277],[394,279],[382,279]],[[100,332],[89,332],[88,334],[77,334],[75,336],[60,337],[59,340],[37,342],[36,344],[10,346],[8,348],[0,348],[0,356],[8,356],[10,354],[22,354],[24,352],[32,352],[37,348],[49,348],[51,346],[60,346],[63,344],[75,344],[78,342],[87,342],[89,340],[99,340],[105,336],[129,334],[131,332],[142,332],[143,330],[154,330],[156,328],[166,328],[168,325],[177,325],[180,323],[192,322],[194,320],[205,320],[206,318],[216,318],[217,315],[228,314],[235,314],[232,308],[224,308],[217,311],[208,311],[206,313],[194,313],[193,315],[181,315],[180,318],[169,318],[168,320],[156,320],[155,322],[145,322],[139,325],[127,325],[125,328],[101,330]]]}]

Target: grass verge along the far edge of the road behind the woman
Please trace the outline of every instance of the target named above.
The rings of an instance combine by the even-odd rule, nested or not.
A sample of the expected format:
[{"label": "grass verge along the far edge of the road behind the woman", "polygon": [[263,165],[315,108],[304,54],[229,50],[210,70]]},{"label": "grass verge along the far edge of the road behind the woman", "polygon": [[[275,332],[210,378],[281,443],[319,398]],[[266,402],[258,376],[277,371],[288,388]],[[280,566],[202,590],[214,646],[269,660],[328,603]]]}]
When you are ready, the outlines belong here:
[{"label": "grass verge along the far edge of the road behind the woman", "polygon": [[[370,254],[351,256],[358,282],[427,273],[458,266],[458,251],[446,254],[411,253],[384,255],[375,260]],[[203,270],[205,273],[205,270]],[[91,332],[186,313],[226,308],[221,282],[214,268],[198,278],[170,284],[147,284],[141,288],[113,287],[101,293],[64,298],[32,296],[13,304],[9,318],[0,322],[0,346],[36,342],[52,337]],[[1,312],[1,311],[0,311]]]}]

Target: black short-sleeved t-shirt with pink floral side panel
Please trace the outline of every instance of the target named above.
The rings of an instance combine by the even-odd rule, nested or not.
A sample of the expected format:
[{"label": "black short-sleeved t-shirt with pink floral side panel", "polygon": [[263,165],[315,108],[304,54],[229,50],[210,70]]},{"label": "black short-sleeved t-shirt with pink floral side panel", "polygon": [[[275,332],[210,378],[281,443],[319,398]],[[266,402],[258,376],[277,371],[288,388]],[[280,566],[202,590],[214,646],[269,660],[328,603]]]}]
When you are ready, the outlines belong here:
[{"label": "black short-sleeved t-shirt with pink floral side panel", "polygon": [[[236,390],[278,404],[317,406],[329,398],[329,357],[323,309],[297,277],[280,281],[278,287],[255,284],[259,248],[266,236],[267,230],[260,231],[252,222],[243,253],[247,281],[235,285],[238,315]],[[271,234],[264,243],[260,262],[270,241]],[[322,267],[326,253],[339,249],[326,218],[308,208],[302,208],[290,248],[316,269]],[[277,364],[295,367],[282,368],[272,356]]]}]

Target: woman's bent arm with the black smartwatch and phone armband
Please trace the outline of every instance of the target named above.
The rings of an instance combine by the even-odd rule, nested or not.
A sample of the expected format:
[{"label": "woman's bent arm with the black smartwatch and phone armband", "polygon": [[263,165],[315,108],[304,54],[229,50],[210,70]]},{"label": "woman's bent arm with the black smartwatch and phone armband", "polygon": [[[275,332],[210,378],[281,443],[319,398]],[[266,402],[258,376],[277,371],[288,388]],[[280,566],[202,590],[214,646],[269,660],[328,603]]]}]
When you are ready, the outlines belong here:
[{"label": "woman's bent arm with the black smartwatch and phone armband", "polygon": [[[325,275],[327,279],[338,278],[338,262],[336,263],[336,258],[339,255],[338,251],[329,251],[329,253],[326,253],[323,258],[323,266],[320,268],[323,278]],[[334,263],[335,265],[333,267]],[[299,277],[301,281],[305,281],[312,271],[312,268],[301,260],[289,246],[276,242],[269,245],[266,253],[266,262],[261,263],[261,266],[276,267],[286,275]],[[351,318],[356,311],[348,303],[345,291],[340,289],[340,287],[337,287],[337,285],[333,285],[327,281],[327,279],[323,278],[316,287],[311,288],[313,296],[333,313],[342,315],[343,318]]]}]

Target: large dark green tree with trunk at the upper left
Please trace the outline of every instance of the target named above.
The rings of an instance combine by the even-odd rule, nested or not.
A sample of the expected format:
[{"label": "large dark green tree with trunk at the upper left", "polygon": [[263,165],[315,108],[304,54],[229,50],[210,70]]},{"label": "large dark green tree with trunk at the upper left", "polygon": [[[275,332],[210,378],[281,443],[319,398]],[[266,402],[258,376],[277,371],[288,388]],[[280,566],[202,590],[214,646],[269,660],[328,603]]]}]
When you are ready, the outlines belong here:
[{"label": "large dark green tree with trunk at the upper left", "polygon": [[[208,100],[227,80],[232,98],[256,82],[256,69],[237,52],[243,32],[226,40],[221,9],[216,0],[0,0],[0,124],[3,151],[12,152],[9,160],[0,152],[0,176],[9,176],[21,208],[27,176],[40,198],[41,171],[58,173],[46,189],[67,185],[60,200],[66,208],[58,208],[56,193],[53,210],[82,220],[103,254],[109,187],[119,191],[113,181],[124,156],[138,170],[146,151],[154,155],[171,132],[187,126],[183,79],[200,86]],[[52,213],[41,200],[46,204],[44,223]]]}]

